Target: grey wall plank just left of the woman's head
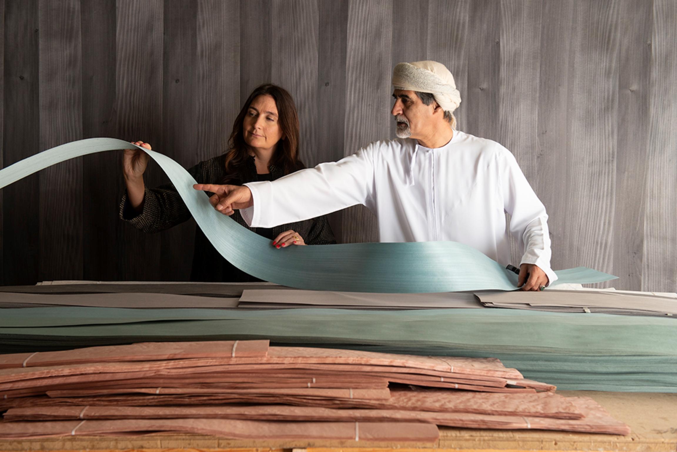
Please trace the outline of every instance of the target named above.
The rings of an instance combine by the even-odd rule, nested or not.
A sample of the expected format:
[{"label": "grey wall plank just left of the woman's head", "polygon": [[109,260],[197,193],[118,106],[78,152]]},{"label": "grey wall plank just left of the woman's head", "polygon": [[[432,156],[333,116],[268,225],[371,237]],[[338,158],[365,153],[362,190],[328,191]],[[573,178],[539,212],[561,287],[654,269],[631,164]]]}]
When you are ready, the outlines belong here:
[{"label": "grey wall plank just left of the woman's head", "polygon": [[240,112],[240,1],[198,1],[196,162],[227,150]]}]

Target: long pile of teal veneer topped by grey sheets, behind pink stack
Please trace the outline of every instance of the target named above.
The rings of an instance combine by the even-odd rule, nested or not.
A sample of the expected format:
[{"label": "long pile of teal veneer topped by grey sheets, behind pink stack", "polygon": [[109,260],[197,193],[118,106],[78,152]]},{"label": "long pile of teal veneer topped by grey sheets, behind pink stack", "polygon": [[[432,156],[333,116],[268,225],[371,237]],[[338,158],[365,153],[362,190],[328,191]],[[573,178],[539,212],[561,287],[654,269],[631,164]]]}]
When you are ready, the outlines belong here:
[{"label": "long pile of teal veneer topped by grey sheets, behind pink stack", "polygon": [[[276,345],[496,357],[529,379],[566,390],[677,392],[674,316],[597,314],[586,306],[592,305],[588,301],[575,306],[575,300],[592,295],[613,304],[643,300],[650,294],[477,295],[486,304],[504,300],[506,306],[518,306],[532,300],[529,306],[541,306],[485,308],[470,293],[315,292],[268,283],[70,282],[0,287],[0,306],[5,306],[0,310],[0,352],[265,337]],[[555,297],[567,297],[566,310],[574,306],[580,312],[543,310]],[[317,300],[322,301],[313,304]],[[637,312],[657,309],[653,311],[657,313],[675,303],[664,294],[650,297],[649,302],[640,306],[633,301],[630,307]],[[242,303],[267,308],[236,307]],[[413,304],[427,308],[412,309]],[[273,305],[284,309],[271,309]]]}]

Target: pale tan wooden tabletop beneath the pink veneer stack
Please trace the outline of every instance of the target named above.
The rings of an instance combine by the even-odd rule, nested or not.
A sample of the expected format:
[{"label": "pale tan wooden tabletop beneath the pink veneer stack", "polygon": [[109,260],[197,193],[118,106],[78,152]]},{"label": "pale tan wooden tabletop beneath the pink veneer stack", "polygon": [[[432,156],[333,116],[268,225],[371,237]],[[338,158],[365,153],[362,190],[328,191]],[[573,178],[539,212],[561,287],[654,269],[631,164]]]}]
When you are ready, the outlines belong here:
[{"label": "pale tan wooden tabletop beneath the pink veneer stack", "polygon": [[[360,441],[257,441],[229,440],[202,435],[154,435],[137,437],[48,438],[0,440],[0,451],[291,451],[380,452],[398,449],[450,449],[461,451],[677,451],[677,394],[630,392],[558,391],[564,396],[590,396],[611,415],[632,429],[629,436],[550,432],[546,430],[475,430],[440,428],[432,445],[415,443],[366,443]],[[303,451],[294,451],[303,452]]]}]

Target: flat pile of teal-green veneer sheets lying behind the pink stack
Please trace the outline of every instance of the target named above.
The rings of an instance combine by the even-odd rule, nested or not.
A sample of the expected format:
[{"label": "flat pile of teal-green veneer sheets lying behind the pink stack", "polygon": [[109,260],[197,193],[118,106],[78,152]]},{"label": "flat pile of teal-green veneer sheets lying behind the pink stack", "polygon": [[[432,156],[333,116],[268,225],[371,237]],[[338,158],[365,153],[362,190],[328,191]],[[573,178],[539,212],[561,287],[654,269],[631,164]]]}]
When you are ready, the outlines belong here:
[{"label": "flat pile of teal-green veneer sheets lying behind the pink stack", "polygon": [[5,309],[2,314],[0,352],[269,339],[274,345],[495,357],[527,378],[561,389],[677,392],[677,326],[669,317],[315,308],[162,309],[139,314],[133,309],[55,307]]}]

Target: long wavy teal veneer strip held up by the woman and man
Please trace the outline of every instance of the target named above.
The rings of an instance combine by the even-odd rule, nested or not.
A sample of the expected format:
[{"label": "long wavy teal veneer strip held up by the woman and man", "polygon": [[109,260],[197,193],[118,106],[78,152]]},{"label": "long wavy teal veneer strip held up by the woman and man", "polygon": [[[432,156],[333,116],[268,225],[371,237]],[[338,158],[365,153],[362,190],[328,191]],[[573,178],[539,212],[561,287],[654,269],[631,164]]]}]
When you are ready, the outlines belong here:
[{"label": "long wavy teal veneer strip held up by the woman and man", "polygon": [[[89,138],[56,146],[0,170],[0,188],[68,159],[135,145]],[[299,289],[424,293],[515,290],[517,275],[472,247],[456,242],[348,243],[276,249],[211,206],[181,165],[148,155],[167,173],[202,232],[234,266],[259,279]],[[67,252],[67,250],[64,250]],[[556,272],[555,283],[599,283],[616,276],[578,267]]]}]

